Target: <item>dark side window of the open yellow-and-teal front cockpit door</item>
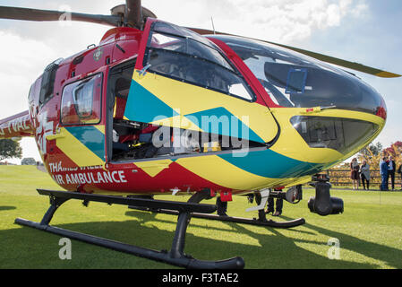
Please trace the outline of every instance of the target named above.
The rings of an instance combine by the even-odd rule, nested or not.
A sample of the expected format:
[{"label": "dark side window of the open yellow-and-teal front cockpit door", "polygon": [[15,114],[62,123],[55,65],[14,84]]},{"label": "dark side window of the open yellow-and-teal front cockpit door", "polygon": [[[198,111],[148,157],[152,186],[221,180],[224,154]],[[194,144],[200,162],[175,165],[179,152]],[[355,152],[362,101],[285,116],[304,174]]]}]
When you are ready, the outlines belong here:
[{"label": "dark side window of the open yellow-and-teal front cockpit door", "polygon": [[243,100],[255,100],[243,76],[215,44],[190,30],[157,22],[151,31],[144,62],[150,72]]}]

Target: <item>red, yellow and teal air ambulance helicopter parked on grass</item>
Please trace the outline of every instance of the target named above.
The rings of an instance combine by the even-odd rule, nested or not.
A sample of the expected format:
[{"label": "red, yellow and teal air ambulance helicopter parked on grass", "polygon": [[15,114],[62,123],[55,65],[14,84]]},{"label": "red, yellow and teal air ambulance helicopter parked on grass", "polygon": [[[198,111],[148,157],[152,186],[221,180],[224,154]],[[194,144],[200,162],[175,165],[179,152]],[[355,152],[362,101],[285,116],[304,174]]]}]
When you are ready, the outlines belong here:
[{"label": "red, yellow and teal air ambulance helicopter parked on grass", "polygon": [[[59,21],[65,12],[0,6],[0,19]],[[140,0],[111,15],[68,13],[112,26],[97,46],[47,65],[32,83],[29,109],[0,120],[0,138],[34,137],[47,172],[65,191],[38,189],[50,207],[24,226],[187,268],[243,268],[242,257],[203,261],[184,254],[192,217],[291,228],[267,220],[269,198],[301,201],[312,213],[342,213],[322,170],[345,161],[381,133],[381,95],[346,67],[366,65],[261,39],[158,20]],[[336,67],[334,65],[338,65]],[[287,187],[287,192],[281,191]],[[190,195],[187,202],[155,195]],[[257,219],[215,213],[232,196],[255,198]],[[217,205],[201,204],[217,197]],[[67,200],[123,204],[176,214],[170,251],[128,246],[49,225]]]}]

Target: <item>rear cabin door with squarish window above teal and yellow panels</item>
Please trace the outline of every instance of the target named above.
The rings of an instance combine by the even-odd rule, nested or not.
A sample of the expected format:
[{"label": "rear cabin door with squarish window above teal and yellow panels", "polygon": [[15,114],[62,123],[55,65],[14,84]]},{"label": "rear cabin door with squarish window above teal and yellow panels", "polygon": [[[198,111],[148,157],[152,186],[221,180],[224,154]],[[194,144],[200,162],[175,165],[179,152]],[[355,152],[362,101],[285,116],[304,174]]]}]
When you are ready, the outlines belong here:
[{"label": "rear cabin door with squarish window above teal and yellow panels", "polygon": [[102,118],[103,74],[93,74],[64,86],[57,147],[77,166],[105,164],[105,124]]}]

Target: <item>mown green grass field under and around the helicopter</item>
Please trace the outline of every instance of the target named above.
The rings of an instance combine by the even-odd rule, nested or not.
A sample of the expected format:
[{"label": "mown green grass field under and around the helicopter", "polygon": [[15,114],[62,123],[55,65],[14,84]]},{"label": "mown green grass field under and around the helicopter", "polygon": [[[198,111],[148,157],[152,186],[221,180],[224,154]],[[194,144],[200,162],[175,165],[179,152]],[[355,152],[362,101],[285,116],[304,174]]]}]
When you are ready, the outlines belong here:
[{"label": "mown green grass field under and around the helicopter", "polygon": [[[40,221],[48,198],[36,188],[56,188],[43,172],[29,166],[0,166],[0,268],[172,268],[107,248],[73,240],[72,259],[58,257],[60,237],[14,224],[16,217]],[[345,213],[321,217],[310,213],[304,190],[300,204],[284,204],[279,220],[304,217],[306,224],[290,230],[192,219],[185,252],[199,259],[244,257],[246,268],[402,268],[402,192],[332,191],[343,198]],[[158,196],[187,200],[184,196]],[[214,204],[213,200],[205,203]],[[246,213],[243,196],[229,203],[228,213]],[[53,225],[153,249],[169,249],[175,230],[173,215],[135,212],[122,205],[69,201]],[[331,260],[328,240],[340,242],[340,259]]]}]

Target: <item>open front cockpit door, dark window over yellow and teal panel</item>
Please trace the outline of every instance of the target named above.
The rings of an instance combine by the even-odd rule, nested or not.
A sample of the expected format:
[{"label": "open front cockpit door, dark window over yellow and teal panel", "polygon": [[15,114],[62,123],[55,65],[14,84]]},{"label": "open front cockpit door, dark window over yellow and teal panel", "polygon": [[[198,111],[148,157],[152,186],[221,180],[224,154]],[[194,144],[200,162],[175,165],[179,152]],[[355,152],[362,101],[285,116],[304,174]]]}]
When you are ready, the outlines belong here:
[{"label": "open front cockpit door, dark window over yellow and teal panel", "polygon": [[167,22],[147,22],[125,119],[265,144],[278,126],[255,100],[242,74],[210,40]]}]

